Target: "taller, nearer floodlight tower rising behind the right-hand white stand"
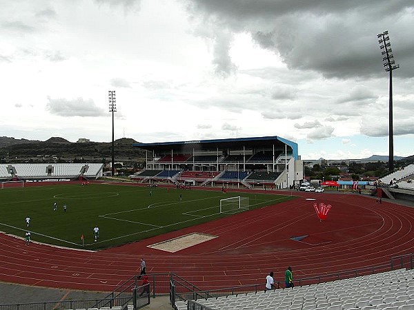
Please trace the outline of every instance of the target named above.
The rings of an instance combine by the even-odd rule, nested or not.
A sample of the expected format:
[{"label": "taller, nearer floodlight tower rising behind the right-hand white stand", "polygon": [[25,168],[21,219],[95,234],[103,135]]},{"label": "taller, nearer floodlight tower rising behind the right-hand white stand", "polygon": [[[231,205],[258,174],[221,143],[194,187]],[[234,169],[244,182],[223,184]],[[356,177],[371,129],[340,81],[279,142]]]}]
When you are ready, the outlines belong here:
[{"label": "taller, nearer floodlight tower rising behind the right-hand white stand", "polygon": [[382,61],[384,61],[384,68],[386,72],[390,72],[390,86],[389,86],[389,104],[388,104],[388,171],[394,170],[394,132],[393,132],[393,70],[400,68],[400,65],[395,65],[394,55],[391,54],[390,37],[388,31],[377,34],[378,43],[382,54]]}]

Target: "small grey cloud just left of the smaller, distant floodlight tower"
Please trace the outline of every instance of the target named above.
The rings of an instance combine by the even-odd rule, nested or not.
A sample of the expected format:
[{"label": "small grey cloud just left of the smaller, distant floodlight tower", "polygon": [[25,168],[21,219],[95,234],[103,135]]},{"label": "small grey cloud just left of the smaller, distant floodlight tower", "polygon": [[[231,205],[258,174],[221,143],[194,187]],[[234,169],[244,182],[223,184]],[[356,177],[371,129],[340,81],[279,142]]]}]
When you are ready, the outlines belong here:
[{"label": "small grey cloud just left of the smaller, distant floodlight tower", "polygon": [[46,104],[46,110],[51,114],[57,116],[106,116],[108,115],[101,107],[95,105],[92,99],[84,100],[83,98],[77,99],[52,99],[48,97],[48,103]]}]

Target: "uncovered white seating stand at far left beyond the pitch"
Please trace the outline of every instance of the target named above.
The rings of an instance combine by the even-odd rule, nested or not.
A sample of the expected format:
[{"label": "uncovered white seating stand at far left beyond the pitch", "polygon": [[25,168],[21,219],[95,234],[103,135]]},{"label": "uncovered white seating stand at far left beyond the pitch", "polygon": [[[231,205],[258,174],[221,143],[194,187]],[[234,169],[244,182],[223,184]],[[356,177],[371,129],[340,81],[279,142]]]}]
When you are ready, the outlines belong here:
[{"label": "uncovered white seating stand at far left beyond the pitch", "polygon": [[96,180],[103,174],[102,163],[13,163],[0,164],[0,180]]}]

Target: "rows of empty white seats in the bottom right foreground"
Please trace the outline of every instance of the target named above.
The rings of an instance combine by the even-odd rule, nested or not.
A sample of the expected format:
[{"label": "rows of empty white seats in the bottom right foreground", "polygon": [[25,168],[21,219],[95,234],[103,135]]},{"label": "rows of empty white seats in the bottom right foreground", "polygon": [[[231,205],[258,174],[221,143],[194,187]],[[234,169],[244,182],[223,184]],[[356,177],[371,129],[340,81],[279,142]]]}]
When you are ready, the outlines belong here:
[{"label": "rows of empty white seats in the bottom right foreground", "polygon": [[[227,310],[406,310],[414,309],[414,270],[399,269],[317,285],[242,293],[197,300],[211,309]],[[177,310],[187,309],[176,302]]]}]

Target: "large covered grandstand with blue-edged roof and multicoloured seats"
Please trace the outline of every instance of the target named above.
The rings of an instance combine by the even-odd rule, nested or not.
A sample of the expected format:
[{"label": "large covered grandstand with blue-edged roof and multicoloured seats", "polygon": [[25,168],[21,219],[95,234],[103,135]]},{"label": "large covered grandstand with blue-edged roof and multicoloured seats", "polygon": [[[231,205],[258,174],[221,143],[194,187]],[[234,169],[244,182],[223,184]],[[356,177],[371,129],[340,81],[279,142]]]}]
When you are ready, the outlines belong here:
[{"label": "large covered grandstand with blue-edged roof and multicoloured seats", "polygon": [[139,183],[295,187],[303,179],[297,143],[279,136],[135,143],[146,150]]}]

